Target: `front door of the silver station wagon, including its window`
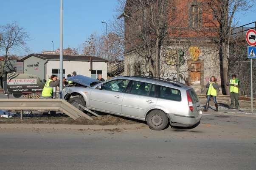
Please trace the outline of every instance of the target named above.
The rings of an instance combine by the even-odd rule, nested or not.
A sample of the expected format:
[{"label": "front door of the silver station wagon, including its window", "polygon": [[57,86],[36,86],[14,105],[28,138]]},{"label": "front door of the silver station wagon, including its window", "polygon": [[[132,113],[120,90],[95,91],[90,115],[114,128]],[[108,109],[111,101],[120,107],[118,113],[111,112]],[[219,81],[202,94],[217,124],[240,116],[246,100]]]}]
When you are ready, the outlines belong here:
[{"label": "front door of the silver station wagon, including its window", "polygon": [[90,108],[121,114],[124,91],[129,80],[113,80],[95,88],[90,93]]}]

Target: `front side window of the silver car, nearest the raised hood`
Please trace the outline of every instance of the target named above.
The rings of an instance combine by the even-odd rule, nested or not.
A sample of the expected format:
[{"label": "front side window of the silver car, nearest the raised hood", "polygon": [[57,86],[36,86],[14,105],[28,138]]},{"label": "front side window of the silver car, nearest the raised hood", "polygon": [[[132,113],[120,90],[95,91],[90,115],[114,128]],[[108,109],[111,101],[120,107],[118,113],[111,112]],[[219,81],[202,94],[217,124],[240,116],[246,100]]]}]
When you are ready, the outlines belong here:
[{"label": "front side window of the silver car, nearest the raised hood", "polygon": [[124,92],[129,84],[129,80],[113,80],[110,82],[106,82],[101,85],[102,90],[109,90],[109,91],[118,91]]}]

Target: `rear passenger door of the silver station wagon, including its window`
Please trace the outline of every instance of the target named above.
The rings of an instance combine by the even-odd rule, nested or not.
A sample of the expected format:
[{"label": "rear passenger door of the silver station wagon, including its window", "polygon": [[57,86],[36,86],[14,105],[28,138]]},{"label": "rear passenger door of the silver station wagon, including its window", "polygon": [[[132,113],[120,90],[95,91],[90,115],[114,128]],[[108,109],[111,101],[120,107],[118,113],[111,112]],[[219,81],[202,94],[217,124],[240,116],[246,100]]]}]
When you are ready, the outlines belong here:
[{"label": "rear passenger door of the silver station wagon, including its window", "polygon": [[130,82],[122,102],[122,114],[144,118],[146,112],[156,105],[158,98],[155,95],[156,85],[139,81]]}]

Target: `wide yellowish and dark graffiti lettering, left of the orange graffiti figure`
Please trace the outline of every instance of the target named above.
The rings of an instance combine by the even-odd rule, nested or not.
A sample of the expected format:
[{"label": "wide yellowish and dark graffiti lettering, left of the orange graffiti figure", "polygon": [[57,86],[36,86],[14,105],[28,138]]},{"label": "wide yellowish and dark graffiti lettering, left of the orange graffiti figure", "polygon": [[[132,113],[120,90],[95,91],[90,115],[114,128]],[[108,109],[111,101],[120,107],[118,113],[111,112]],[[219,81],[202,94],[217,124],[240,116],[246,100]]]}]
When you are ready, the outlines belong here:
[{"label": "wide yellowish and dark graffiti lettering, left of the orange graffiti figure", "polygon": [[162,54],[165,59],[165,63],[168,66],[175,66],[177,65],[176,59],[179,58],[180,60],[180,66],[184,65],[185,59],[184,59],[184,52],[182,49],[170,49],[170,48],[163,48]]}]

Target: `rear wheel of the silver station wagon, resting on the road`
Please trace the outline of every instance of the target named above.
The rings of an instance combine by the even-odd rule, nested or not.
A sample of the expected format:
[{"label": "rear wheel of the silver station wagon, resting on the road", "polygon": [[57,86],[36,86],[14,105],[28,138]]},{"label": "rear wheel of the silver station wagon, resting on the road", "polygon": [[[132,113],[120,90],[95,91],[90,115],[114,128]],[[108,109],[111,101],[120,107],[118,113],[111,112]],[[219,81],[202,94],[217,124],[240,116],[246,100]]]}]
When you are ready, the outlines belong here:
[{"label": "rear wheel of the silver station wagon, resting on the road", "polygon": [[161,110],[152,110],[146,117],[146,122],[152,130],[163,130],[169,123],[168,116]]}]

